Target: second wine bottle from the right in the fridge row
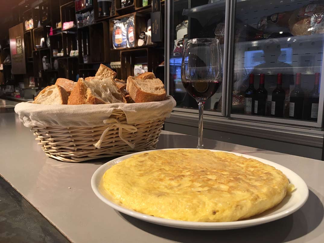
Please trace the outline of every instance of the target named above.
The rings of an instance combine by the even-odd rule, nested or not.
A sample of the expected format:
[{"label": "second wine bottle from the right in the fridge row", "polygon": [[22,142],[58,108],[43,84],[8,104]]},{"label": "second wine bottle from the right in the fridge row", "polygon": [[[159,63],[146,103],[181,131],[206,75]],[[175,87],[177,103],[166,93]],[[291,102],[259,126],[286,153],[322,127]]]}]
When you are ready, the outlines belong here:
[{"label": "second wine bottle from the right in the fridge row", "polygon": [[289,118],[302,119],[305,94],[301,88],[301,73],[296,74],[295,88],[290,93]]}]

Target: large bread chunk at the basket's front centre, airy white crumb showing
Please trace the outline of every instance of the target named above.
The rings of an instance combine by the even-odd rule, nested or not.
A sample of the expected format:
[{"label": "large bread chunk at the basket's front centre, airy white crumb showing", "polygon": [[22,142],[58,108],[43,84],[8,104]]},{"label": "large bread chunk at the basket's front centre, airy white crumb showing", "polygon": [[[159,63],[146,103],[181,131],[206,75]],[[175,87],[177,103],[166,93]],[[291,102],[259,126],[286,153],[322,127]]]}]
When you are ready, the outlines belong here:
[{"label": "large bread chunk at the basket's front centre, airy white crumb showing", "polygon": [[121,91],[111,78],[85,81],[79,78],[71,92],[68,105],[125,103]]}]

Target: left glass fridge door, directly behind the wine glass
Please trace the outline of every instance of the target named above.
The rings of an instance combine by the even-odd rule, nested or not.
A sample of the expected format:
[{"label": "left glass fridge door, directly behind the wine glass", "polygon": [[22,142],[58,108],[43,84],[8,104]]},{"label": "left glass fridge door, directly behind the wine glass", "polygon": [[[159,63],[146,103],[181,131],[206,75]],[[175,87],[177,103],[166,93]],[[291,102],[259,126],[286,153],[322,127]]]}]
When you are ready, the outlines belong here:
[{"label": "left glass fridge door, directly behind the wine glass", "polygon": [[[181,62],[184,43],[194,38],[217,38],[221,44],[224,62],[226,0],[178,0],[169,1],[168,16],[168,94],[177,101],[175,110],[198,112],[198,105],[182,85]],[[223,72],[224,73],[224,72]],[[207,114],[225,115],[226,77],[216,93],[208,99],[204,110]],[[223,114],[222,114],[222,106]]]}]

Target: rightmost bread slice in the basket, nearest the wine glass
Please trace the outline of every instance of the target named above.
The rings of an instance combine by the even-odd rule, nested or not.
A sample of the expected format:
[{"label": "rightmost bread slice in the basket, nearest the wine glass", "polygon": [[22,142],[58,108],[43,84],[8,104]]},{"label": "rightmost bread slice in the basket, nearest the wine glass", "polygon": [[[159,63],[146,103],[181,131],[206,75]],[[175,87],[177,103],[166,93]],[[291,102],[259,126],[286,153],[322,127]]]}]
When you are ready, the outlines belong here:
[{"label": "rightmost bread slice in the basket, nearest the wine glass", "polygon": [[129,76],[126,89],[135,103],[161,101],[167,94],[158,78],[144,80]]}]

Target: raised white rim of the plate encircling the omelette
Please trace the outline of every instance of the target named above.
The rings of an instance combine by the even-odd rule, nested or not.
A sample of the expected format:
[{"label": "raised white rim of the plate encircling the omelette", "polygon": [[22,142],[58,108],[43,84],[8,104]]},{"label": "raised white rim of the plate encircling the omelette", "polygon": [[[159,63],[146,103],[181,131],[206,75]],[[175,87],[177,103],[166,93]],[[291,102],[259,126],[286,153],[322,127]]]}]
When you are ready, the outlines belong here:
[{"label": "raised white rim of the plate encircling the omelette", "polygon": [[[147,150],[147,151],[136,152],[136,153],[133,153],[133,154],[128,154],[128,155],[124,155],[124,156],[120,156],[120,157],[117,157],[115,159],[112,159],[112,160],[110,160],[110,161],[102,164],[93,173],[93,175],[91,177],[91,188],[92,188],[92,191],[96,194],[96,196],[103,203],[106,203],[111,208],[113,208],[113,209],[115,209],[115,210],[117,210],[117,211],[119,211],[121,213],[124,213],[124,214],[127,214],[129,216],[132,216],[132,217],[135,217],[137,219],[140,219],[140,220],[144,220],[144,221],[147,221],[147,222],[150,222],[150,223],[154,223],[154,224],[159,224],[159,225],[177,227],[177,228],[211,229],[211,230],[216,230],[216,229],[223,230],[223,229],[243,228],[243,227],[256,226],[256,225],[261,225],[261,224],[268,223],[268,222],[271,222],[271,221],[275,221],[277,219],[284,218],[284,217],[286,217],[286,216],[288,216],[290,214],[293,214],[298,209],[300,209],[306,203],[306,201],[308,199],[308,195],[309,195],[309,191],[308,190],[309,189],[308,189],[308,186],[307,186],[306,182],[298,174],[296,174],[294,171],[292,171],[291,169],[289,169],[287,167],[284,167],[284,166],[282,166],[280,164],[277,164],[275,162],[272,162],[270,160],[260,158],[260,157],[246,155],[246,154],[241,154],[241,153],[236,153],[236,152],[224,151],[224,150],[215,150],[215,149],[204,149],[204,150],[209,150],[209,151],[212,151],[212,152],[226,152],[226,153],[231,153],[231,154],[234,154],[234,155],[237,155],[237,156],[243,156],[243,157],[246,157],[246,158],[256,159],[256,160],[258,160],[258,161],[260,161],[262,163],[264,163],[263,161],[266,161],[265,164],[271,165],[271,166],[273,166],[276,169],[279,169],[281,171],[282,171],[282,169],[288,171],[291,175],[293,175],[294,177],[296,177],[297,179],[300,180],[300,183],[302,184],[302,187],[300,187],[299,189],[301,191],[305,191],[305,194],[301,194],[301,195],[304,195],[304,197],[302,197],[301,200],[299,201],[299,203],[296,203],[293,208],[288,208],[288,210],[286,210],[284,212],[280,212],[280,213],[273,214],[273,215],[266,215],[266,216],[263,216],[263,217],[260,217],[260,218],[243,219],[243,220],[231,221],[231,222],[195,222],[195,221],[181,221],[181,220],[175,220],[175,219],[165,219],[165,218],[151,216],[151,215],[148,215],[148,214],[139,213],[139,212],[136,212],[136,211],[134,211],[132,209],[128,209],[126,207],[122,207],[122,206],[120,206],[120,205],[118,205],[118,204],[110,201],[105,196],[103,196],[100,193],[100,191],[98,190],[98,186],[96,184],[96,178],[98,177],[98,174],[107,166],[107,164],[113,163],[116,160],[120,160],[118,162],[118,163],[120,163],[121,161],[123,161],[124,159],[126,159],[124,157],[129,157],[129,156],[133,156],[133,155],[136,155],[136,154],[150,153],[150,152],[159,151],[159,150],[175,150],[175,149],[196,149],[196,148],[167,148],[167,149]],[[277,168],[277,167],[279,167],[279,168]],[[280,169],[280,168],[282,168],[282,169]]]}]

